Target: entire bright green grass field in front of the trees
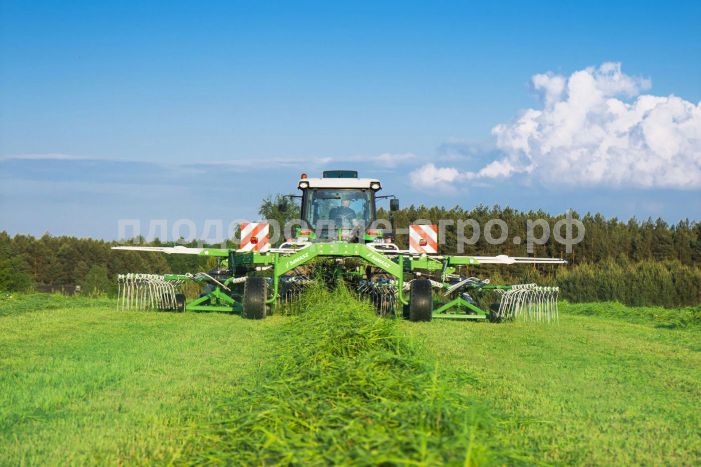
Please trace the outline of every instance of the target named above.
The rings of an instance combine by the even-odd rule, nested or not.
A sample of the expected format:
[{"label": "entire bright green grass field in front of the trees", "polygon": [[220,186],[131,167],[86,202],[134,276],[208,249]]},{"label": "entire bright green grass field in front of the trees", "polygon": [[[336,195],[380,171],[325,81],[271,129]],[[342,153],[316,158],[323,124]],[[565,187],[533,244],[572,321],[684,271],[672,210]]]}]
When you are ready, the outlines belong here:
[{"label": "entire bright green grass field in front of the trees", "polygon": [[[339,436],[351,439],[366,435],[375,416],[382,423],[393,423],[393,414],[416,417],[417,409],[429,415],[438,410],[437,419],[417,428],[418,434],[413,435],[425,440],[423,447],[421,443],[411,445],[408,438],[402,441],[408,435],[399,429],[397,439],[392,438],[397,449],[415,449],[411,456],[418,463],[421,459],[440,461],[427,461],[430,458],[421,452],[427,446],[456,450],[451,453],[456,456],[443,459],[449,463],[468,459],[477,463],[698,465],[701,461],[700,332],[695,327],[659,327],[660,320],[653,319],[658,313],[649,309],[625,309],[625,313],[649,318],[631,323],[625,313],[601,316],[601,304],[565,305],[559,325],[554,326],[435,320],[400,322],[390,329],[377,327],[372,318],[362,318],[358,323],[369,337],[348,325],[346,332],[351,337],[342,336],[343,341],[362,337],[362,342],[369,342],[360,353],[353,347],[348,355],[340,351],[340,360],[317,361],[309,352],[302,352],[301,360],[286,360],[287,369],[280,370],[275,365],[280,360],[280,339],[290,336],[290,326],[299,324],[294,320],[300,318],[252,322],[219,313],[118,313],[109,302],[76,305],[75,300],[59,300],[42,306],[33,300],[0,302],[0,464],[4,465],[213,461],[218,454],[212,454],[210,440],[216,441],[220,452],[226,451],[226,443],[240,449],[264,446],[255,444],[265,439],[257,434],[260,431],[243,431],[231,440],[208,434],[210,423],[222,419],[222,402],[231,402],[234,412],[249,410],[252,415],[244,413],[249,418],[241,420],[250,424],[251,420],[258,423],[255,406],[246,409],[236,401],[265,404],[271,410],[268,413],[297,417],[299,407],[290,409],[291,402],[287,402],[298,399],[304,404],[326,400],[319,407],[324,407],[324,417],[331,418],[311,414],[311,421],[295,422],[295,429],[301,430],[299,439],[290,438],[282,446],[279,437],[268,438],[269,449],[302,449],[300,443],[307,450],[326,449],[331,441],[318,441],[323,438],[316,436],[318,444],[309,444],[305,439],[313,430],[318,435],[340,429],[333,418],[339,412],[332,407],[338,399],[351,401],[353,410],[343,413],[348,426],[354,428],[338,431]],[[315,316],[332,313],[333,306],[325,306]],[[341,301],[338,306],[350,305]],[[334,320],[314,325],[333,326]],[[397,335],[408,336],[418,347],[409,346],[405,351],[397,347],[396,357],[392,356],[393,346],[376,349],[376,342],[390,339],[395,327]],[[305,329],[306,334],[295,339],[307,339],[305,346],[311,348],[315,328]],[[322,335],[320,332],[319,339]],[[338,338],[333,346],[327,342],[320,348],[336,348]],[[383,353],[386,360],[369,360],[375,352]],[[411,363],[416,358],[423,363]],[[306,373],[294,367],[306,366],[311,360],[317,366],[310,364]],[[393,363],[387,366],[390,360]],[[365,366],[345,367],[343,362]],[[428,379],[440,380],[426,387],[415,381],[412,386],[419,392],[433,391],[434,398],[435,388],[440,387],[449,398],[441,402],[440,409],[433,402],[426,407],[416,405],[421,398],[398,400],[400,395],[383,391],[381,384],[376,393],[348,396],[372,386],[372,381],[388,381],[404,391],[406,381],[391,377],[395,367],[407,365],[407,381],[411,377],[423,378],[426,384]],[[328,369],[340,367],[353,372],[358,381],[367,381],[355,388],[333,388],[334,380],[323,378]],[[422,373],[425,367],[435,367],[440,374]],[[287,374],[288,379],[280,380],[287,382],[280,383],[278,374]],[[320,378],[320,382],[291,384],[300,374],[305,381]],[[270,387],[256,393],[266,386],[261,381],[271,381]],[[318,398],[309,392],[310,387],[336,393]],[[280,405],[280,394],[285,391],[289,393]],[[469,402],[462,404],[461,398]],[[441,420],[461,411],[475,417],[473,409],[479,401],[496,423],[482,429],[481,421],[465,421],[465,426],[475,426],[481,434],[458,433],[455,426]],[[395,405],[404,412],[378,412],[379,407]],[[479,412],[479,417],[485,416]],[[232,420],[226,423],[236,431],[238,419]],[[421,417],[417,420],[423,424]],[[266,423],[271,424],[268,433],[280,428],[275,419]],[[373,429],[373,436],[393,433]],[[440,430],[444,430],[444,439],[432,444]],[[487,435],[495,442],[486,442]],[[474,443],[454,439],[470,436],[475,437]],[[482,456],[477,455],[477,442],[484,447]],[[348,442],[343,447],[350,449]],[[378,448],[370,449],[360,454],[355,448],[348,452],[355,462],[363,463]],[[467,454],[458,449],[466,449]]]}]

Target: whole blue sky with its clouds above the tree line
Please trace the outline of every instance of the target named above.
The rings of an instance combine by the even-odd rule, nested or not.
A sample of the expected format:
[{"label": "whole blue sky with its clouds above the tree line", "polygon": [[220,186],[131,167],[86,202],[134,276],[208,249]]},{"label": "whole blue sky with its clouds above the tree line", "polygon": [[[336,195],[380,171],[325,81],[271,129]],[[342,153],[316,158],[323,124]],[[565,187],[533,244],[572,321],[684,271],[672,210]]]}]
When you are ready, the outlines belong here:
[{"label": "whole blue sky with its clouds above the tree line", "polygon": [[1,5],[11,234],[255,219],[325,168],[402,205],[701,219],[698,2]]}]

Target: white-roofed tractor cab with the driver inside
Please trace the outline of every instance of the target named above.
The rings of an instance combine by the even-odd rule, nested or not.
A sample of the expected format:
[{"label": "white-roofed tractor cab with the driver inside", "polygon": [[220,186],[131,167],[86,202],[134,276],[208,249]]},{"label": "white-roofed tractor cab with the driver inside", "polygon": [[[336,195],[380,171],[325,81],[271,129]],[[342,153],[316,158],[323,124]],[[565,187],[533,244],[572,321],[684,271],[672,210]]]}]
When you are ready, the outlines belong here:
[{"label": "white-roofed tractor cab with the driver inside", "polygon": [[[297,238],[309,240],[375,241],[379,229],[368,229],[376,220],[375,201],[379,180],[358,178],[355,170],[325,170],[322,178],[302,174],[301,220]],[[395,200],[392,200],[395,201]],[[398,203],[392,203],[393,207]]]}]

